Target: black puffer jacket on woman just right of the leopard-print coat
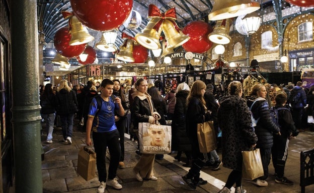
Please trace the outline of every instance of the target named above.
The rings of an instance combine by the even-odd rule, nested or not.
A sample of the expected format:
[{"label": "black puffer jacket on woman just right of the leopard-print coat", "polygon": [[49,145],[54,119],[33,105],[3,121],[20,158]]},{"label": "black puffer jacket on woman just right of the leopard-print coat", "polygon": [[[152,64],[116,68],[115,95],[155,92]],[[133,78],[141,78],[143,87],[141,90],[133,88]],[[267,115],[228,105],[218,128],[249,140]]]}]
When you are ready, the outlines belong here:
[{"label": "black puffer jacket on woman just right of the leopard-print coat", "polygon": [[[248,97],[248,107],[250,107],[257,98],[257,96]],[[280,128],[271,120],[268,102],[266,100],[257,101],[251,111],[255,119],[259,118],[255,127],[255,133],[258,138],[257,147],[271,148],[273,146],[273,134],[278,133]]]}]

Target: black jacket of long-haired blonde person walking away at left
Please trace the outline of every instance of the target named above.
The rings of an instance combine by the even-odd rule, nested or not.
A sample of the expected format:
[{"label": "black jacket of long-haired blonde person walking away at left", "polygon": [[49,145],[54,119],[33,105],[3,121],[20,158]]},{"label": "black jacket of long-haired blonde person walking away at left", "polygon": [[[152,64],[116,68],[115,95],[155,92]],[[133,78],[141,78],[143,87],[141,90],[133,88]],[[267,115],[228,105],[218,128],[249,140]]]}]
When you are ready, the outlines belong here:
[{"label": "black jacket of long-haired blonde person walking away at left", "polygon": [[56,93],[57,97],[57,113],[59,115],[66,115],[77,112],[77,100],[73,90],[67,92],[64,88]]}]

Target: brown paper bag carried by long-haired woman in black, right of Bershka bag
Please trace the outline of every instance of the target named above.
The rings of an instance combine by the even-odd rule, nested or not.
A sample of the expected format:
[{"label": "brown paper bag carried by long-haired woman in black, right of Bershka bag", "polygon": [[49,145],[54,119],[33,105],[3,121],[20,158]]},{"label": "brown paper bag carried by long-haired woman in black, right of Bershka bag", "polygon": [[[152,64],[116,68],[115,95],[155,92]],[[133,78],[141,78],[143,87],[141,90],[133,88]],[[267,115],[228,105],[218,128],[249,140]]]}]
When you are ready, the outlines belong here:
[{"label": "brown paper bag carried by long-haired woman in black, right of Bershka bag", "polygon": [[201,153],[208,153],[217,149],[217,139],[213,121],[197,124],[198,146]]}]

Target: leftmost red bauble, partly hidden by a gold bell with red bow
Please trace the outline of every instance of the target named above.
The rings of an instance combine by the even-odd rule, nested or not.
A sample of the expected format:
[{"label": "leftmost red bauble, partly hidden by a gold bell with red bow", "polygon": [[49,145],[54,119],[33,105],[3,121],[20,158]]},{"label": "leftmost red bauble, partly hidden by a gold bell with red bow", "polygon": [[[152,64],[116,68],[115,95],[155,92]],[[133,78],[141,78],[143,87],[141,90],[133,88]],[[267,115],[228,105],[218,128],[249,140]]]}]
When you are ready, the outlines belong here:
[{"label": "leftmost red bauble, partly hidden by a gold bell with red bow", "polygon": [[84,50],[86,44],[70,46],[71,34],[68,33],[68,28],[61,28],[58,30],[53,38],[53,44],[59,54],[66,58],[72,58],[80,55]]}]

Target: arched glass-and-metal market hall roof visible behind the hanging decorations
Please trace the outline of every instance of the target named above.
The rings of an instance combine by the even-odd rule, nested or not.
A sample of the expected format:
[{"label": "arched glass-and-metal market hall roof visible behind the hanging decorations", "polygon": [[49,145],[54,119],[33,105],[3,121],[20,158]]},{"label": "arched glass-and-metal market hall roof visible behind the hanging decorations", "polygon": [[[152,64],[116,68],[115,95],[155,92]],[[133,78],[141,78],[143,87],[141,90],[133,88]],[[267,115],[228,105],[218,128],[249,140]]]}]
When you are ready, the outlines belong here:
[{"label": "arched glass-and-metal market hall roof visible behind the hanging decorations", "polygon": [[[258,2],[264,5],[267,5],[269,2],[271,3],[270,0],[259,0]],[[140,13],[142,18],[141,25],[133,30],[121,25],[118,29],[116,46],[119,47],[123,43],[123,39],[121,38],[123,32],[134,37],[135,34],[140,33],[146,27],[149,21],[147,15],[150,4],[158,7],[162,13],[165,13],[171,8],[176,8],[176,22],[180,28],[183,28],[191,21],[199,19],[206,20],[213,7],[214,0],[134,0],[133,10]],[[38,0],[37,9],[39,35],[44,35],[45,43],[52,43],[55,33],[63,27],[68,27],[68,19],[64,19],[61,12],[72,12],[70,1]],[[89,33],[95,37],[95,41],[89,43],[90,46],[94,47],[95,43],[100,40],[102,32],[89,29]]]}]

